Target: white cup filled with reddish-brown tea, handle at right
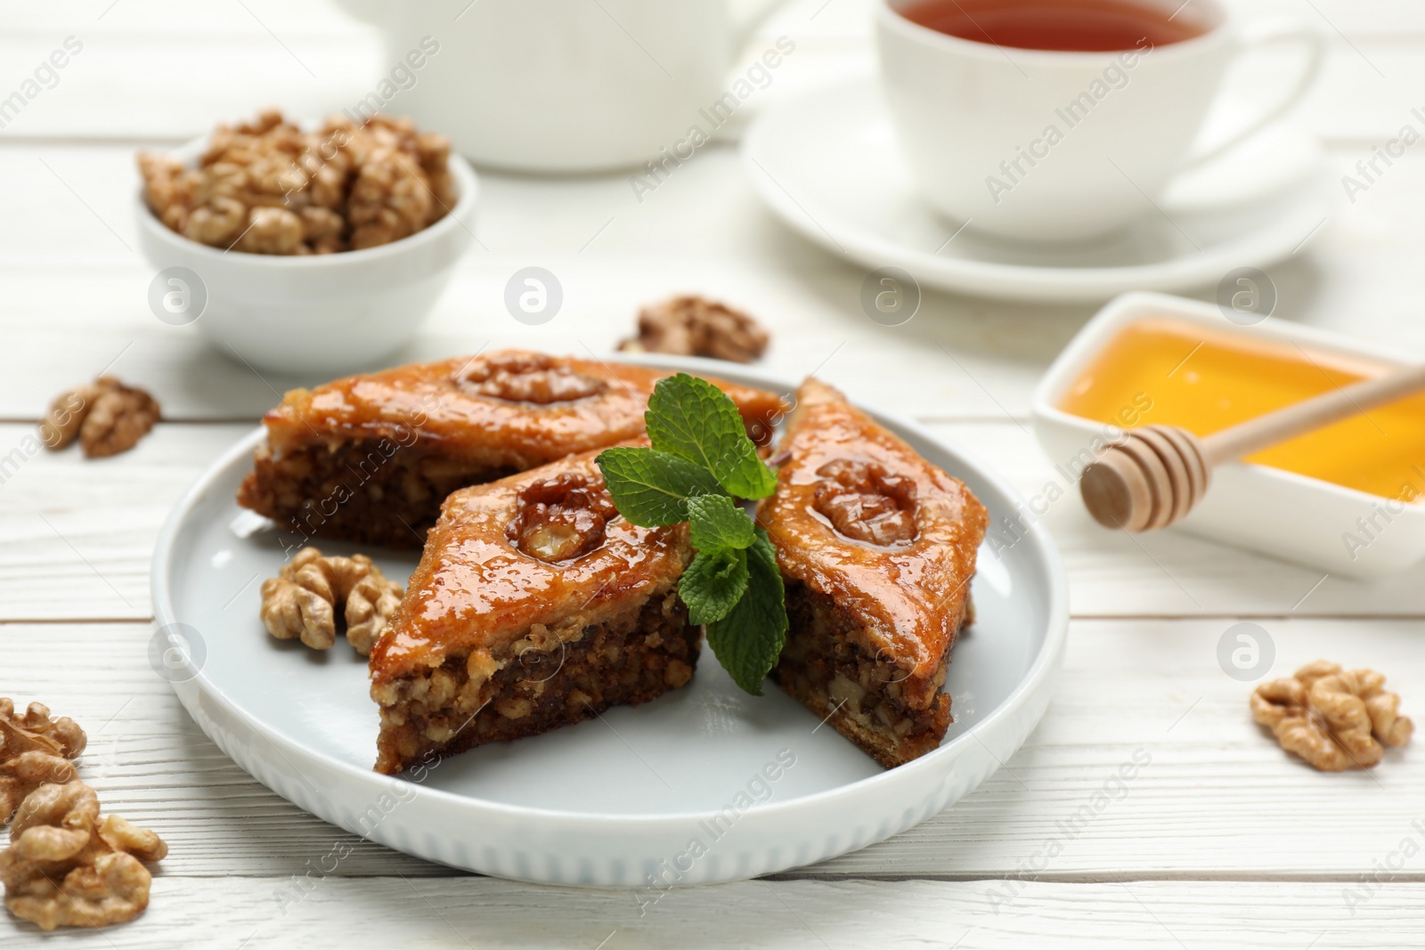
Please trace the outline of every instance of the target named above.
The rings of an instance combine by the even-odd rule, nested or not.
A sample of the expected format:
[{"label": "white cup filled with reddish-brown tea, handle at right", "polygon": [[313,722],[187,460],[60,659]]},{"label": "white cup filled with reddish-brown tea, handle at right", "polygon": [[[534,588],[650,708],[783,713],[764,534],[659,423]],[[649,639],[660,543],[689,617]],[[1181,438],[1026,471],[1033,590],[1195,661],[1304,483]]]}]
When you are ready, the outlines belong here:
[{"label": "white cup filled with reddish-brown tea, handle at right", "polygon": [[[1320,33],[1243,26],[1217,0],[881,0],[881,84],[921,194],[976,231],[1073,241],[1141,215],[1176,174],[1295,105]],[[1210,150],[1194,140],[1231,61],[1291,44],[1290,91]]]}]

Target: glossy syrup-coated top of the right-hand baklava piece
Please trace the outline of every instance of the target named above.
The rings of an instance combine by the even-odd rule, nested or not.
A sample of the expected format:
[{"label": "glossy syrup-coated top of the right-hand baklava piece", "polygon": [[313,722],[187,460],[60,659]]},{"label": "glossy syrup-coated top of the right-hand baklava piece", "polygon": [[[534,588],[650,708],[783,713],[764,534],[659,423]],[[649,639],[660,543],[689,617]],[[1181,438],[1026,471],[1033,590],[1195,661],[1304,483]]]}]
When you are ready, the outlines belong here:
[{"label": "glossy syrup-coated top of the right-hand baklava piece", "polygon": [[[789,457],[757,520],[777,546],[782,574],[854,612],[865,624],[872,655],[928,682],[965,617],[988,524],[985,506],[959,479],[815,379],[797,390],[781,444]],[[862,503],[869,517],[885,524],[888,514],[905,511],[913,533],[858,533],[891,541],[875,544],[838,531],[818,508],[826,508],[828,487],[845,487],[848,470],[872,473]],[[879,506],[878,493],[886,496]],[[842,511],[832,514],[839,520]]]}]

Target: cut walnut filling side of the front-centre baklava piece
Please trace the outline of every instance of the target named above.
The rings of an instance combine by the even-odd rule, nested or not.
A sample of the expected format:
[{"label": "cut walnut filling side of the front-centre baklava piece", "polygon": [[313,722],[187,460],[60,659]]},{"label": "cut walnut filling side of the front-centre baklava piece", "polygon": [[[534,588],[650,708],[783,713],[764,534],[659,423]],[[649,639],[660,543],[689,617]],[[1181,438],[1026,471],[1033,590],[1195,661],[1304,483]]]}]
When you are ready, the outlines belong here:
[{"label": "cut walnut filling side of the front-centre baklava piece", "polygon": [[675,591],[591,625],[534,624],[494,655],[452,652],[440,667],[372,687],[380,705],[376,771],[453,755],[654,699],[693,679],[698,628]]}]

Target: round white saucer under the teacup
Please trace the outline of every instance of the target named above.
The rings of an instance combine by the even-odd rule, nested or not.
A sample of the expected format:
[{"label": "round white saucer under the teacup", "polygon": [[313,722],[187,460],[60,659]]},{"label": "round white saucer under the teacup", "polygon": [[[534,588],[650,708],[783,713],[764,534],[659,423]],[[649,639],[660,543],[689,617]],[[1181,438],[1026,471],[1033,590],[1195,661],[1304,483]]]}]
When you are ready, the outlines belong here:
[{"label": "round white saucer under the teacup", "polygon": [[[1241,111],[1223,103],[1204,137]],[[903,268],[926,286],[1029,301],[1211,286],[1235,268],[1291,255],[1334,202],[1320,144],[1277,124],[1181,175],[1160,211],[1146,207],[1113,238],[1036,246],[956,234],[916,194],[874,74],[770,107],[744,138],[742,164],[782,221],[835,254]]]}]

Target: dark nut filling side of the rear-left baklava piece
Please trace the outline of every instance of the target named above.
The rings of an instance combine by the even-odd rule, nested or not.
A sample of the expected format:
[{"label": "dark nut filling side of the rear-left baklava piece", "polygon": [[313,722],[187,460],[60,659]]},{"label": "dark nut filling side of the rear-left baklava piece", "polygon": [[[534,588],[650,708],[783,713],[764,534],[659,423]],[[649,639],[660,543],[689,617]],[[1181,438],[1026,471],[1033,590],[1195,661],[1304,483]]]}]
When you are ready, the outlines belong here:
[{"label": "dark nut filling side of the rear-left baklava piece", "polygon": [[258,451],[238,504],[306,537],[412,548],[456,489],[514,474],[390,439]]}]

